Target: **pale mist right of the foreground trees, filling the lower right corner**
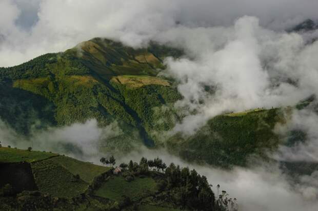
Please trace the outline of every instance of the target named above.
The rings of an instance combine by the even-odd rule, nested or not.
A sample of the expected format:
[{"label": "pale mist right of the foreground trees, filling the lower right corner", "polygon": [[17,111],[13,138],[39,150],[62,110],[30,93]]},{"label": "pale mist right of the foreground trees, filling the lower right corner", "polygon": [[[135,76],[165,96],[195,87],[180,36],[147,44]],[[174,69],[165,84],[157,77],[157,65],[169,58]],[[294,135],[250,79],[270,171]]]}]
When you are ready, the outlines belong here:
[{"label": "pale mist right of the foreground trees, filling the lower right corner", "polygon": [[167,153],[165,150],[147,150],[132,152],[119,161],[130,159],[138,162],[142,157],[153,159],[160,157],[168,165],[173,162],[181,167],[188,166],[199,174],[207,177],[213,185],[214,194],[216,185],[226,191],[229,197],[238,200],[238,209],[244,211],[269,210],[316,210],[318,206],[318,172],[303,176],[299,182],[290,180],[278,164],[257,163],[251,168],[234,167],[232,170],[221,170],[209,165],[196,165],[187,163],[180,158]]}]

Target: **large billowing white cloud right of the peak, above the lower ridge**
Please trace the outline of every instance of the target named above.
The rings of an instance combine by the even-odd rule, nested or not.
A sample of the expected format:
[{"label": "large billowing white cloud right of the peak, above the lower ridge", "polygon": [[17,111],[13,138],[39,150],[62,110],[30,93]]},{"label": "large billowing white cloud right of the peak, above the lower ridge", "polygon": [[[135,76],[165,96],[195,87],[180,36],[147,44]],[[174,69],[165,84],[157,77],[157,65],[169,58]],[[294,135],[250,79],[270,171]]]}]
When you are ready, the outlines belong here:
[{"label": "large billowing white cloud right of the peak, above the lower ridge", "polygon": [[156,38],[187,52],[166,59],[165,74],[184,96],[176,106],[192,111],[175,131],[193,133],[226,111],[292,106],[318,91],[318,42],[266,29],[256,17],[229,27],[177,27]]}]

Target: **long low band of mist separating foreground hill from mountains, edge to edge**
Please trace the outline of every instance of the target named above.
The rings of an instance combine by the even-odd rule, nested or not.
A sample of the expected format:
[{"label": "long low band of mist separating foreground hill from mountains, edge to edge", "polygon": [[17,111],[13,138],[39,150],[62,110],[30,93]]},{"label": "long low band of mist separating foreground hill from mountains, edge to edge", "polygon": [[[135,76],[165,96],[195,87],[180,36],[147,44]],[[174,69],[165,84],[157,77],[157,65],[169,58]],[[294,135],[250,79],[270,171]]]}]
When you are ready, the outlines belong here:
[{"label": "long low band of mist separating foreground hill from mountains, edge to edge", "polygon": [[[299,115],[299,114],[295,114]],[[295,116],[296,117],[296,116]],[[295,118],[297,121],[298,118]],[[310,122],[310,120],[309,120]],[[288,130],[297,125],[291,121]],[[305,126],[303,126],[304,128]],[[285,132],[287,129],[284,129]],[[281,130],[281,132],[283,129]],[[101,152],[98,145],[107,138],[118,136],[121,129],[116,122],[105,128],[97,126],[97,121],[92,119],[85,123],[75,123],[63,128],[49,128],[48,130],[34,131],[29,138],[18,135],[3,121],[0,121],[0,140],[3,146],[11,145],[19,149],[27,149],[53,153],[61,153],[83,161],[100,164],[101,157],[109,156]],[[69,145],[69,146],[68,146]],[[68,151],[68,147],[72,150]],[[300,149],[301,150],[301,149]],[[301,153],[301,151],[298,151]],[[281,159],[284,157],[280,155]],[[263,163],[257,161],[255,166],[249,168],[233,167],[232,170],[222,170],[209,165],[197,165],[181,160],[169,154],[165,149],[150,150],[146,146],[138,145],[130,153],[115,153],[116,165],[129,160],[139,162],[142,157],[154,159],[160,157],[168,165],[173,162],[194,168],[199,174],[207,177],[212,190],[216,194],[216,185],[220,184],[231,198],[237,198],[239,210],[315,210],[318,206],[318,172],[301,176],[295,182],[289,175],[284,174],[277,163]],[[301,160],[298,158],[297,160]],[[255,163],[255,162],[254,162]]]}]

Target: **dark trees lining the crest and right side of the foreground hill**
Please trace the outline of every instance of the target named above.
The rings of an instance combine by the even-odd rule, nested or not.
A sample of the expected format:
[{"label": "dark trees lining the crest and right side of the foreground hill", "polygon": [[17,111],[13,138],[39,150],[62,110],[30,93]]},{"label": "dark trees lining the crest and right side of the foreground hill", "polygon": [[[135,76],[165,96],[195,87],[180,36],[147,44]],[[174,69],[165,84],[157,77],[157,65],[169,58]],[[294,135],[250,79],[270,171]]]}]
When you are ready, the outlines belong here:
[{"label": "dark trees lining the crest and right side of the foreground hill", "polygon": [[[190,210],[237,211],[236,199],[228,198],[225,191],[216,199],[207,178],[189,167],[180,167],[174,163],[167,166],[158,157],[153,160],[142,157],[139,163],[130,160],[128,164],[121,163],[120,167],[126,181],[142,175],[155,178],[163,202],[171,202]],[[220,185],[217,185],[219,188]]]}]

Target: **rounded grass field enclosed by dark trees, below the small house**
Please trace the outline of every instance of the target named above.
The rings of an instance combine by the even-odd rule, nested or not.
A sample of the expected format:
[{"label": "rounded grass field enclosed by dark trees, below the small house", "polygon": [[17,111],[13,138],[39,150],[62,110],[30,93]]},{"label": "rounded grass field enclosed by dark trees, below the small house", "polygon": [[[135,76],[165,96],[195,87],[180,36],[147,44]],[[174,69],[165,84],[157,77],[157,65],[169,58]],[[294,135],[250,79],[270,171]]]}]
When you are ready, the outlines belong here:
[{"label": "rounded grass field enclosed by dark trees, below the small house", "polygon": [[98,188],[95,195],[114,201],[120,200],[123,195],[128,196],[131,200],[138,200],[155,191],[156,183],[152,178],[135,178],[133,181],[127,182],[123,177],[116,176]]}]

